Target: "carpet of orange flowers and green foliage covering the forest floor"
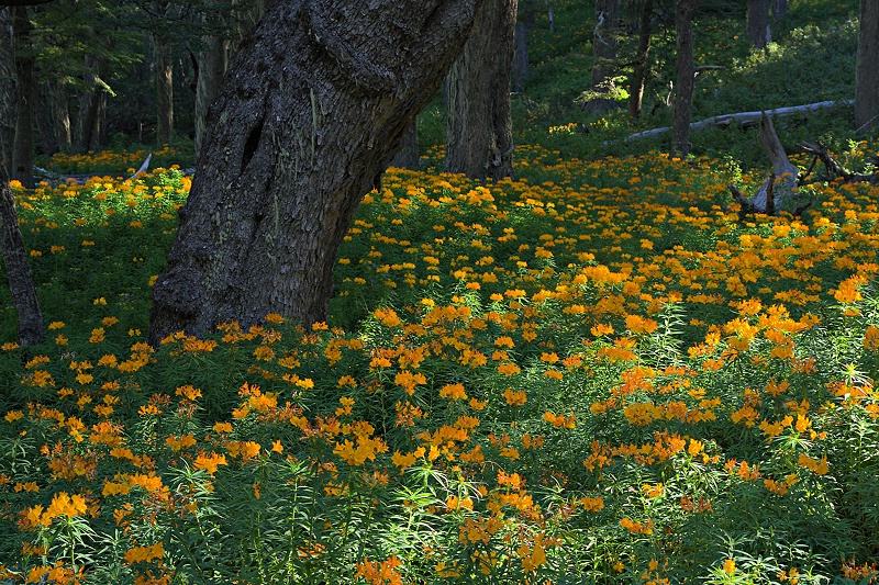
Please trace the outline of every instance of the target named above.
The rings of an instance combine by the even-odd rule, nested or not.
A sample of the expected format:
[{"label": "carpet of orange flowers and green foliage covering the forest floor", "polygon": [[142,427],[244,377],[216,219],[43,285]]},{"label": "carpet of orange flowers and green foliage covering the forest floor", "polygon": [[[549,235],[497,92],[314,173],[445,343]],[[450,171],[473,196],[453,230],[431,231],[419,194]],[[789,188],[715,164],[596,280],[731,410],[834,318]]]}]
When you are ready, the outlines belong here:
[{"label": "carpet of orange flowers and green foliage covering the forest floor", "polygon": [[[715,23],[727,82],[855,34],[791,4],[838,26],[748,56]],[[577,61],[552,46],[577,42],[565,7],[544,67]],[[190,185],[173,149],[136,177],[144,153],[116,150],[46,161],[108,173],[84,184],[13,184],[49,335],[18,347],[0,291],[0,583],[876,582],[879,187],[744,215],[726,185],[768,173],[756,131],[694,135],[687,159],[604,146],[639,128],[557,108],[577,92],[550,72],[516,102],[515,178],[441,172],[422,115],[423,169],[365,196],[308,330],[146,344]],[[714,82],[694,116],[760,108]],[[869,171],[850,115],[779,134]]]}]

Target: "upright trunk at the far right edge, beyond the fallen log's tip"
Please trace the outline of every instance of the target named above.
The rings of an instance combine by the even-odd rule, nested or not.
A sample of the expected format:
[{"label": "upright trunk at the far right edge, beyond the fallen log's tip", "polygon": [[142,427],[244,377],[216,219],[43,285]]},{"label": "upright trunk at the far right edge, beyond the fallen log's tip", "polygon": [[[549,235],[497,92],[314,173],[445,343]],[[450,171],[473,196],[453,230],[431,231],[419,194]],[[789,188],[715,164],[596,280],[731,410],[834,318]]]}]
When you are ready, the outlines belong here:
[{"label": "upright trunk at the far right edge, beyond the fallen log's tip", "polygon": [[879,127],[879,0],[860,0],[855,80],[855,127]]}]

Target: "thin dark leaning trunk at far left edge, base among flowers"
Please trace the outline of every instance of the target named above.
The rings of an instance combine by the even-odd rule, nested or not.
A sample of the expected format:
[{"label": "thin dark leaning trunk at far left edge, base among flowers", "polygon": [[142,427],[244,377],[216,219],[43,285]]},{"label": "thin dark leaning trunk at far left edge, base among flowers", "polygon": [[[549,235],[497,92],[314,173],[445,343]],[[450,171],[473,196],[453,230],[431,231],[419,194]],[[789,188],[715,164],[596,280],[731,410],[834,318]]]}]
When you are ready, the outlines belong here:
[{"label": "thin dark leaning trunk at far left edge, base among flowers", "polygon": [[[5,148],[0,145],[0,150]],[[19,229],[15,198],[9,188],[7,167],[0,157],[0,246],[9,279],[12,306],[19,315],[19,345],[30,346],[43,340],[43,315],[36,297],[27,254]]]}]

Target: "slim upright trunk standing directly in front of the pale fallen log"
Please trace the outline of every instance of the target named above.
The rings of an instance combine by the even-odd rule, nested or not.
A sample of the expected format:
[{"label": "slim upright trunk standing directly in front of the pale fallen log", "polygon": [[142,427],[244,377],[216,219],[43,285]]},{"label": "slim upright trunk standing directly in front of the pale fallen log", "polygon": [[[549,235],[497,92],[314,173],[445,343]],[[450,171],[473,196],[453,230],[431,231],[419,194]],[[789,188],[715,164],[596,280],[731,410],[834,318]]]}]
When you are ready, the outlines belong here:
[{"label": "slim upright trunk standing directly in front of the pale fallen log", "polygon": [[677,36],[677,89],[671,150],[685,157],[690,153],[690,112],[693,103],[693,11],[697,0],[678,0],[675,11]]}]

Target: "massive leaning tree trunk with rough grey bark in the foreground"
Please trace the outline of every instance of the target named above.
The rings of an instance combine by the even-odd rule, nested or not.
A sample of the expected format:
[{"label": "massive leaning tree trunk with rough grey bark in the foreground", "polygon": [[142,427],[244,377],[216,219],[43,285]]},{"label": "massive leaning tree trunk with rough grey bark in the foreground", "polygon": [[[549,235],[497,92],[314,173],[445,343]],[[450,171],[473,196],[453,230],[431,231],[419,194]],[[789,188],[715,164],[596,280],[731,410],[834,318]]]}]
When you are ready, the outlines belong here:
[{"label": "massive leaning tree trunk with rough grey bark in the foreground", "polygon": [[[208,121],[149,340],[326,318],[336,251],[480,0],[278,0]],[[380,43],[376,40],[381,40]]]}]

